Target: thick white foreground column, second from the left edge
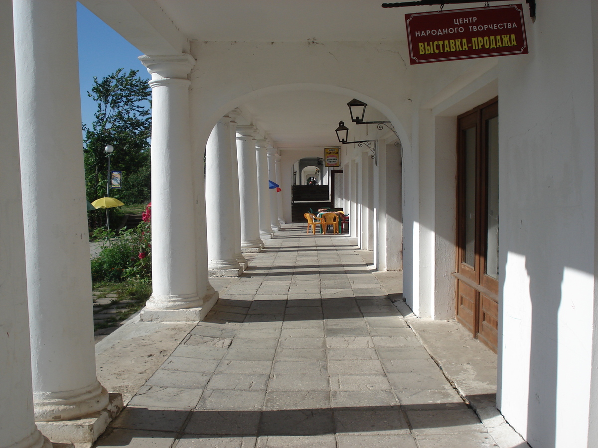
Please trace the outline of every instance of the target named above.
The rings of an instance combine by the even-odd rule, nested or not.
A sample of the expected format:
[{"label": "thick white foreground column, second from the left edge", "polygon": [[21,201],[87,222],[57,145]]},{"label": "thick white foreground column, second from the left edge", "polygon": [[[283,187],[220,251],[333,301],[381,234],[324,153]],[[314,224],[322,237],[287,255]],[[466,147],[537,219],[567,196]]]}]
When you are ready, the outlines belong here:
[{"label": "thick white foreground column, second from the left edge", "polygon": [[108,406],[96,379],[76,5],[13,4],[33,401],[36,421],[54,425]]}]

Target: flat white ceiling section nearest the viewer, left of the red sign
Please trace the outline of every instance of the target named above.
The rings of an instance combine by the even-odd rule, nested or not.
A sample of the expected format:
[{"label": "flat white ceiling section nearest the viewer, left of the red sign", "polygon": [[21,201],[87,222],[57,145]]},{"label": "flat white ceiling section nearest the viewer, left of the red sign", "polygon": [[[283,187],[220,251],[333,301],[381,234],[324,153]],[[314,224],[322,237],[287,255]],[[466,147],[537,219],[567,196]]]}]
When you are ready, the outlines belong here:
[{"label": "flat white ceiling section nearest the viewer, left of the red sign", "polygon": [[381,0],[157,0],[190,40],[237,42],[405,39],[404,11]]}]

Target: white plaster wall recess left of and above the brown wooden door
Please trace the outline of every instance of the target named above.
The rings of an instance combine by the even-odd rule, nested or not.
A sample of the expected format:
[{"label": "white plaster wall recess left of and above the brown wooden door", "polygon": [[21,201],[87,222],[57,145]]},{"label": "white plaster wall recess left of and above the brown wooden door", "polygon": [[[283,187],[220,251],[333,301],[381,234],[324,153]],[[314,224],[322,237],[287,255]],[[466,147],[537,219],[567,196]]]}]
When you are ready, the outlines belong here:
[{"label": "white plaster wall recess left of and above the brown wooden door", "polygon": [[[498,94],[495,58],[418,72],[413,142],[403,149],[404,296],[420,317],[454,317],[456,116]],[[414,188],[417,185],[417,188]]]}]

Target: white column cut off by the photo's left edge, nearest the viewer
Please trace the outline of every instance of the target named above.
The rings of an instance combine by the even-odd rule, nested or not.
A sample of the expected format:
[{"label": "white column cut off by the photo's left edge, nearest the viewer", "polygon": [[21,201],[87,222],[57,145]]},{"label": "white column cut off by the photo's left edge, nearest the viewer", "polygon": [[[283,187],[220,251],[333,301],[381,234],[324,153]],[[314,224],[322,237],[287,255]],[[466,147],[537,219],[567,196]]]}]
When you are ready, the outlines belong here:
[{"label": "white column cut off by the photo's left edge, nearest the viewer", "polygon": [[35,426],[19,167],[13,11],[0,2],[0,446],[50,448]]}]

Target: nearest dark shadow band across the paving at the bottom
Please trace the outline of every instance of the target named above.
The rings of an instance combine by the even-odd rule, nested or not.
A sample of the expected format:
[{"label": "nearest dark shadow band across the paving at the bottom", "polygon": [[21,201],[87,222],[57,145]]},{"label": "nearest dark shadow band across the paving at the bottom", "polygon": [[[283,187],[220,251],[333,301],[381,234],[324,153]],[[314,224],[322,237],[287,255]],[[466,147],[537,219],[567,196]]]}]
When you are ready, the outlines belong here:
[{"label": "nearest dark shadow band across the paving at the bottom", "polygon": [[[112,428],[177,432],[179,435],[230,437],[231,435],[324,435],[354,432],[409,434],[411,430],[421,432],[429,428],[459,426],[471,430],[479,424],[480,421],[474,413],[460,402],[265,411],[127,407],[111,426]],[[130,439],[120,440],[120,442],[130,442]]]}]

